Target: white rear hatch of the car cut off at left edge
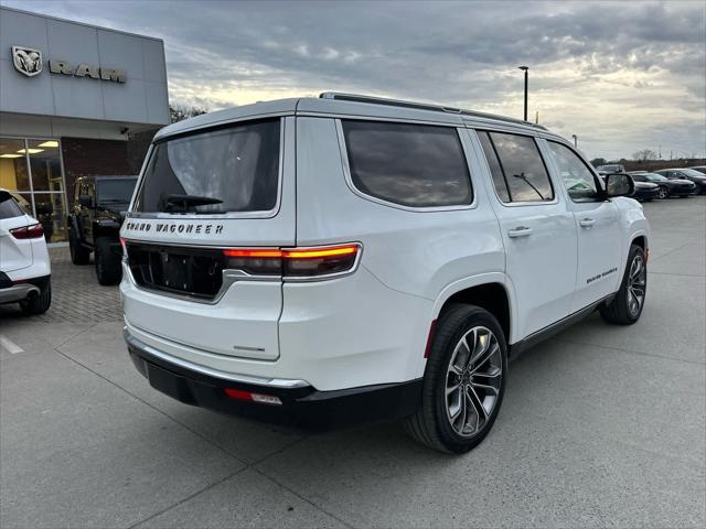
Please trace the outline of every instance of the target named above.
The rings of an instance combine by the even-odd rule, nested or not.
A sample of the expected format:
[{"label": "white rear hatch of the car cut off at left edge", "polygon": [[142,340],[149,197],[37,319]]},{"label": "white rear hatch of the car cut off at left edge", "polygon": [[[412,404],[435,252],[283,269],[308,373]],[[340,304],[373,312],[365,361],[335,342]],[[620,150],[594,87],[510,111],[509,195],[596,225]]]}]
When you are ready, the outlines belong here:
[{"label": "white rear hatch of the car cut off at left edge", "polygon": [[22,228],[33,225],[36,225],[36,220],[24,214],[10,193],[0,190],[1,272],[13,272],[32,266],[32,239],[23,237]]}]

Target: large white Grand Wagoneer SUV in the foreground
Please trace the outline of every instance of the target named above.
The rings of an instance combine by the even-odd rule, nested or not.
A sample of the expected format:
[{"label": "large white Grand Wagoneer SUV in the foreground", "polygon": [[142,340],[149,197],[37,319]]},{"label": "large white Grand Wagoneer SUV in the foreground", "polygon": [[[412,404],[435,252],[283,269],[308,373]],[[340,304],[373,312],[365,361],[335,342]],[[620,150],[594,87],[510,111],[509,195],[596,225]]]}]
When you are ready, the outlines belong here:
[{"label": "large white Grand Wagoneer SUV in the foreground", "polygon": [[405,419],[477,445],[507,359],[640,317],[650,228],[524,121],[323,94],[162,129],[121,229],[125,337],[183,402],[307,425]]}]

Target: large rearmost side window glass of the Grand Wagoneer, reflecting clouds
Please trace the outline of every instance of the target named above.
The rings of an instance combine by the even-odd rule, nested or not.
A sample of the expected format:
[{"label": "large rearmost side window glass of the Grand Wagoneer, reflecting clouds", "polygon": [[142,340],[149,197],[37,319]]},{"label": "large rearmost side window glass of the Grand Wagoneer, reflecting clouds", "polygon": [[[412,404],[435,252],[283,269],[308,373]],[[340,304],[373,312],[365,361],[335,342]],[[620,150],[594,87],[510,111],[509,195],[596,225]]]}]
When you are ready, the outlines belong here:
[{"label": "large rearmost side window glass of the Grand Wagoneer, reflecting clouds", "polygon": [[450,127],[343,120],[353,185],[410,207],[468,205],[473,190],[458,131]]}]

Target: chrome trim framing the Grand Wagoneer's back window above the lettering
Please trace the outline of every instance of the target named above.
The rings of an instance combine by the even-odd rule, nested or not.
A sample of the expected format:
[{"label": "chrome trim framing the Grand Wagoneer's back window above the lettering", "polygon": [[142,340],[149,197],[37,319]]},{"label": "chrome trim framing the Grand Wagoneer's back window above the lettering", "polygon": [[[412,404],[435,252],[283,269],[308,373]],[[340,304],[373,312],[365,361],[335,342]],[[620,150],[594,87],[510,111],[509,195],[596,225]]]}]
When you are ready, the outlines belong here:
[{"label": "chrome trim framing the Grand Wagoneer's back window above the lettering", "polygon": [[[274,116],[277,117],[277,116]],[[265,119],[257,117],[255,119]],[[253,118],[248,118],[247,120],[253,120]],[[245,121],[245,120],[244,120]],[[237,127],[242,121],[233,121],[233,127]],[[225,121],[223,128],[229,128],[231,123]],[[208,127],[202,129],[193,129],[184,132],[183,136],[191,136],[206,133],[208,132],[208,128],[221,128],[218,123],[211,123]],[[270,209],[265,209],[261,212],[227,212],[227,213],[212,213],[212,214],[170,214],[164,212],[135,212],[132,208],[135,207],[135,202],[142,191],[142,186],[145,185],[145,171],[149,166],[151,158],[154,153],[156,143],[168,142],[170,139],[178,139],[182,134],[173,134],[165,136],[160,138],[156,143],[150,144],[150,149],[148,151],[148,155],[145,159],[145,163],[142,170],[140,172],[140,177],[138,180],[138,185],[136,185],[135,195],[132,196],[132,201],[130,202],[130,210],[126,214],[126,218],[159,218],[159,219],[180,219],[180,218],[205,218],[205,219],[222,219],[226,220],[229,218],[272,218],[279,214],[282,203],[282,187],[284,187],[284,176],[285,176],[285,132],[287,129],[287,120],[284,119],[282,116],[279,117],[279,168],[277,170],[277,201],[275,202],[275,206]]]}]

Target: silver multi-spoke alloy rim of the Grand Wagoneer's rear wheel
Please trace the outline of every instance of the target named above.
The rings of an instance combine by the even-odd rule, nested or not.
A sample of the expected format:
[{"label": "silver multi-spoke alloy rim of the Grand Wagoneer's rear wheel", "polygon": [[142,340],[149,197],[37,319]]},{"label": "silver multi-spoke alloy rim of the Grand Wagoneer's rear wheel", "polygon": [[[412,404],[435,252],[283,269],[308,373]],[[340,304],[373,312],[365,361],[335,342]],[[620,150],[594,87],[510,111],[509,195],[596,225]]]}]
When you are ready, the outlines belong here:
[{"label": "silver multi-spoke alloy rim of the Grand Wagoneer's rear wheel", "polygon": [[470,438],[488,423],[503,377],[498,337],[477,326],[458,342],[446,375],[446,411],[454,432]]}]

